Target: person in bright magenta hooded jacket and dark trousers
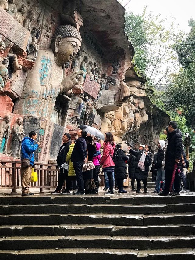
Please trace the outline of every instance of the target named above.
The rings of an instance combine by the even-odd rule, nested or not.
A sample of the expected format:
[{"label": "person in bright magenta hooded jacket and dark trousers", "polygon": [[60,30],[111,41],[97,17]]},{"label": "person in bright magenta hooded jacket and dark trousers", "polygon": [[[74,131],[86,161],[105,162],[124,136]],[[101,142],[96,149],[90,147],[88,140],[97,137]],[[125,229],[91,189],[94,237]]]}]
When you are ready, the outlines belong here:
[{"label": "person in bright magenta hooded jacket and dark trousers", "polygon": [[95,165],[95,168],[93,169],[93,179],[96,186],[96,194],[98,194],[99,190],[99,172],[100,172],[100,161],[101,161],[101,153],[100,153],[100,147],[101,144],[98,142],[94,143],[94,146],[96,148],[96,153],[94,153],[93,157],[93,163]]}]

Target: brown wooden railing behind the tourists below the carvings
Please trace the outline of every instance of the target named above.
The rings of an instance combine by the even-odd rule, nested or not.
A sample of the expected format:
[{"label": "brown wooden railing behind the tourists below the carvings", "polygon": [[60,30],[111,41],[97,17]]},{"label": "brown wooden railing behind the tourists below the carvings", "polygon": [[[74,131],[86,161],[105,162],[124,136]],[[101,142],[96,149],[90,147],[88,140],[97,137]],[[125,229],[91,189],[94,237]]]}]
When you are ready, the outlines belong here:
[{"label": "brown wooden railing behind the tourists below the carvings", "polygon": [[[40,194],[44,194],[44,188],[56,188],[58,185],[59,167],[57,164],[34,163],[37,172],[37,182],[31,182],[31,188],[40,188]],[[16,189],[21,189],[21,162],[0,160],[0,190],[12,189],[11,195],[17,195]],[[99,174],[101,185],[104,185],[104,175]]]}]

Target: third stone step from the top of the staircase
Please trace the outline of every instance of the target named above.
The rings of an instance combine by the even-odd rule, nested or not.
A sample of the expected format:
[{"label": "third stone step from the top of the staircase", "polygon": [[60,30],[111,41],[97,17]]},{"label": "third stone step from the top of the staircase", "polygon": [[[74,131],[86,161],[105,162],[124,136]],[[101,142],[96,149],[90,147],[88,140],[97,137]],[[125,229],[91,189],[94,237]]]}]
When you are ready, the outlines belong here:
[{"label": "third stone step from the top of the staircase", "polygon": [[0,215],[1,225],[58,225],[58,224],[106,224],[117,226],[148,226],[167,224],[191,224],[195,213],[143,214],[17,214]]}]

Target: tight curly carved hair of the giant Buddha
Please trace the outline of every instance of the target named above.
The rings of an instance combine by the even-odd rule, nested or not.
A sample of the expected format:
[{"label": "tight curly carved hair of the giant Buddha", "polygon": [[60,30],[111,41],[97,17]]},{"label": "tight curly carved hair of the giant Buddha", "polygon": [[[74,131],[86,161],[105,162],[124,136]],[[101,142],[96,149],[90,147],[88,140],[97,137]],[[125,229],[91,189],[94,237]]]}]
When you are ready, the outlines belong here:
[{"label": "tight curly carved hair of the giant Buddha", "polygon": [[65,25],[60,25],[54,32],[53,38],[51,42],[55,41],[55,38],[61,35],[62,38],[66,38],[66,37],[74,37],[78,40],[80,40],[80,42],[82,42],[82,38],[81,35],[79,33],[79,31],[72,25],[69,24],[65,24]]}]

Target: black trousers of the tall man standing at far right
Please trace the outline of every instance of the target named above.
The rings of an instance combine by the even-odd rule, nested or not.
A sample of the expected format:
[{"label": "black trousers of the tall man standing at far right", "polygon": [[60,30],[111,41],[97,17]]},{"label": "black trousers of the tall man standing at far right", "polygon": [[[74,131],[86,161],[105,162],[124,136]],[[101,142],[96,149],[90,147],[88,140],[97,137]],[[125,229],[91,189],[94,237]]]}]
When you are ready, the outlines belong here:
[{"label": "black trousers of the tall man standing at far right", "polygon": [[[172,179],[172,175],[173,175],[173,169],[174,168],[170,168],[165,170],[165,188],[164,188],[164,193],[169,193],[169,189],[171,186],[171,179]],[[172,188],[172,187],[171,187]],[[176,170],[176,175],[175,175],[175,179],[174,179],[174,189],[175,192],[180,192],[180,188],[181,188],[181,178],[178,175],[178,172]]]}]

